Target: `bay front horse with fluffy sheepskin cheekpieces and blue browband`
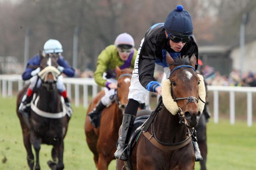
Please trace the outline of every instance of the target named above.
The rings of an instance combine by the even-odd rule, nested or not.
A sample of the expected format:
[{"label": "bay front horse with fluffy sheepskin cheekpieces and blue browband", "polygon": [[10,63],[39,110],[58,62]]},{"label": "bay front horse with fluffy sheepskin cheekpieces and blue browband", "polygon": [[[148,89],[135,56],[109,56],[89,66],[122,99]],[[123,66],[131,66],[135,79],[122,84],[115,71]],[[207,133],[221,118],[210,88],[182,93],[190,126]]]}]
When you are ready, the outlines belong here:
[{"label": "bay front horse with fluffy sheepskin cheekpieces and blue browband", "polygon": [[[205,100],[205,89],[199,88],[201,77],[194,69],[194,55],[175,61],[168,53],[166,55],[170,77],[162,86],[162,109],[153,112],[152,121],[149,118],[141,129],[130,152],[128,166],[132,170],[194,170],[192,128],[197,125],[204,108],[201,100]],[[201,89],[204,93],[199,96]],[[126,163],[117,160],[117,169],[129,169],[122,166]]]}]

